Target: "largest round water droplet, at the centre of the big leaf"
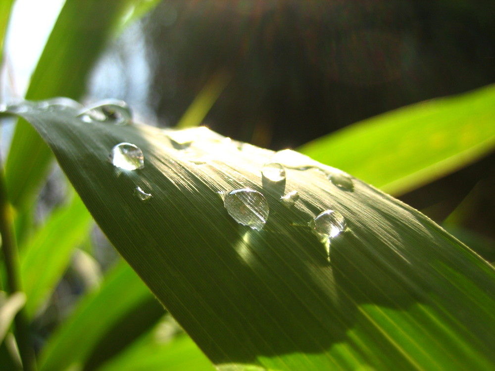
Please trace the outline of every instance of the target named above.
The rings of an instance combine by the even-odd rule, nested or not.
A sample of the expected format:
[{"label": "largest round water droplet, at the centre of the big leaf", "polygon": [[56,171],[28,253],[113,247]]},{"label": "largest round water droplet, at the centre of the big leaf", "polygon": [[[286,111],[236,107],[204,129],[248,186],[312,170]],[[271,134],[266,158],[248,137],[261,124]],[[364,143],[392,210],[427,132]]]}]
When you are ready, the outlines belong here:
[{"label": "largest round water droplet, at the centre of the big leaf", "polygon": [[230,191],[225,195],[224,205],[237,223],[253,230],[263,228],[268,219],[268,202],[260,192],[251,188]]}]

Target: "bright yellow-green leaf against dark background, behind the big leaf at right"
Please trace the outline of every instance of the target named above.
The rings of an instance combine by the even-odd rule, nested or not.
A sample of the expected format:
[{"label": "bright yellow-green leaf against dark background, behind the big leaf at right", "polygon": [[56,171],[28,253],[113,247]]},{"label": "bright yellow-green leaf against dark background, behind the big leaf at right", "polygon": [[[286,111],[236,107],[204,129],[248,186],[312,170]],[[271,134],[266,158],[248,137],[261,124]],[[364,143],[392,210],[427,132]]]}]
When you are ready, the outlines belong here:
[{"label": "bright yellow-green leaf against dark background, behind the big leaf at right", "polygon": [[350,125],[299,150],[401,194],[493,151],[495,86],[432,99]]}]

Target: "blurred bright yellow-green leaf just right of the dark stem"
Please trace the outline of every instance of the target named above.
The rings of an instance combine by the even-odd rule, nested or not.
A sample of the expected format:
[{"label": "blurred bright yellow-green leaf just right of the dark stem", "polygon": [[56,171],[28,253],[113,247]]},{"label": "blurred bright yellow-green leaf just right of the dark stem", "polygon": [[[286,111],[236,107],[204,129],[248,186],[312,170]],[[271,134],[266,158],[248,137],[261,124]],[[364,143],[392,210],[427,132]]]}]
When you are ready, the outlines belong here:
[{"label": "blurred bright yellow-green leaf just right of the dark stem", "polygon": [[32,318],[62,277],[74,248],[86,237],[93,218],[76,195],[55,210],[46,223],[20,246],[20,274]]}]

